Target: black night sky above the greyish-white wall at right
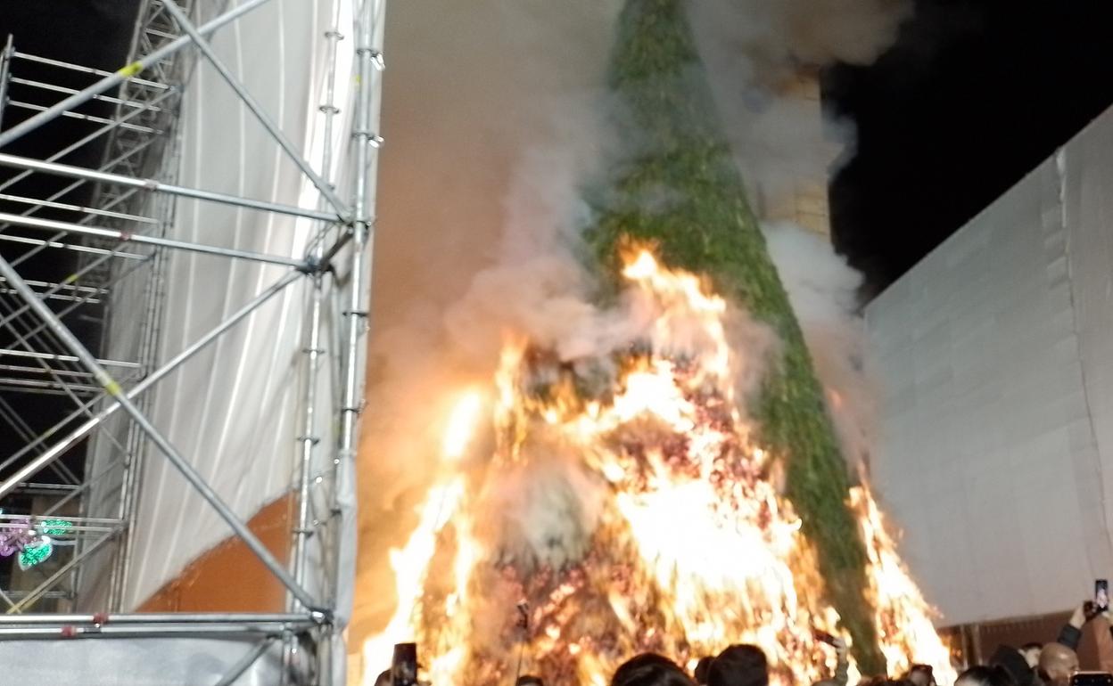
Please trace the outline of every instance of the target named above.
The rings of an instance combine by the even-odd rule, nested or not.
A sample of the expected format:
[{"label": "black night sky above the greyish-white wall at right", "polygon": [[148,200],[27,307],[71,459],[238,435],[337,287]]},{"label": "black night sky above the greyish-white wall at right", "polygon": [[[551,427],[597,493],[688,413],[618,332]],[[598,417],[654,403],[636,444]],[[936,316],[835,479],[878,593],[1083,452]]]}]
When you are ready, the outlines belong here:
[{"label": "black night sky above the greyish-white wall at right", "polygon": [[830,208],[864,296],[1113,103],[1111,39],[1109,0],[918,0],[874,66],[827,74],[827,106],[858,127]]}]

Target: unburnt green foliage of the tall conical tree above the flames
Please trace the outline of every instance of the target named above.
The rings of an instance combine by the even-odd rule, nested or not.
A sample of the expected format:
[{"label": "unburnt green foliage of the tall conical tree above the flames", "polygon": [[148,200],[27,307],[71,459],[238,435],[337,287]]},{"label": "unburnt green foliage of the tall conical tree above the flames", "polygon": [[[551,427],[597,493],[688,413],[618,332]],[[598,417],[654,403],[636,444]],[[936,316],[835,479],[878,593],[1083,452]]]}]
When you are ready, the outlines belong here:
[{"label": "unburnt green foliage of the tall conical tree above the flames", "polygon": [[612,278],[618,250],[652,241],[669,266],[706,275],[780,336],[754,412],[787,460],[787,495],[816,545],[831,603],[864,673],[884,670],[864,589],[865,549],[823,391],[715,110],[680,0],[628,0],[612,54],[614,125],[632,152],[597,195],[588,241]]}]

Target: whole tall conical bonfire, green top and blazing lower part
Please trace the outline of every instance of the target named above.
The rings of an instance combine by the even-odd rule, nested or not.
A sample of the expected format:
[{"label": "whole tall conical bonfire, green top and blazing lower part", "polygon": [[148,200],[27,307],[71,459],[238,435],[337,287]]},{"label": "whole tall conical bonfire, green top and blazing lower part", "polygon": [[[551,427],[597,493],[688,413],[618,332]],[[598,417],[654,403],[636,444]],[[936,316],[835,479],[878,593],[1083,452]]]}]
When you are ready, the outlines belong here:
[{"label": "whole tall conical bonfire, green top and blazing lower part", "polygon": [[366,685],[396,642],[434,686],[603,685],[639,652],[692,664],[732,643],[806,684],[834,667],[817,630],[853,645],[851,675],[927,663],[949,683],[848,485],[680,0],[627,1],[610,86],[636,152],[608,165],[584,235],[608,344],[558,354],[508,326],[494,378],[459,390]]}]

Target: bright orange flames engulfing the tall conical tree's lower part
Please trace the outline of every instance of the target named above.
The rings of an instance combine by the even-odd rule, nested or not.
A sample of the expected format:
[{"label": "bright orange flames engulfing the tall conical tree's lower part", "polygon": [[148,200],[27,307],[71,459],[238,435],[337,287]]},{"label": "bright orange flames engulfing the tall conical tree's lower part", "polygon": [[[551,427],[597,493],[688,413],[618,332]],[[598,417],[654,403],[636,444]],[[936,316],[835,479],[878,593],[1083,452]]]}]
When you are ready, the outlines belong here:
[{"label": "bright orange flames engulfing the tall conical tree's lower part", "polygon": [[[434,686],[513,683],[521,669],[604,686],[636,653],[691,664],[732,643],[759,645],[776,684],[830,675],[814,632],[849,636],[775,486],[779,460],[735,397],[746,360],[726,301],[648,250],[627,256],[623,276],[638,339],[580,367],[508,344],[484,427],[494,453],[466,476],[453,460],[481,428],[482,396],[457,402],[451,474],[392,554],[398,609],[364,646],[366,686],[402,640],[418,642]],[[932,610],[876,504],[864,488],[849,495],[890,672],[923,662],[949,683]]]}]

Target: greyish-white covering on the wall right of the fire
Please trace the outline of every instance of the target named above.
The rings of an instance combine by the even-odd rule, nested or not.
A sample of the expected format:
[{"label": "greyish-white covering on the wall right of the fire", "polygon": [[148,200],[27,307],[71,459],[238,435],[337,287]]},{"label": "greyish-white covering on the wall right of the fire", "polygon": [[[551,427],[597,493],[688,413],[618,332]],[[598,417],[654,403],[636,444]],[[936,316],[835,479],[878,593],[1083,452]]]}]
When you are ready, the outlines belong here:
[{"label": "greyish-white covering on the wall right of the fire", "polygon": [[943,624],[1113,574],[1113,112],[867,309],[873,478]]}]

